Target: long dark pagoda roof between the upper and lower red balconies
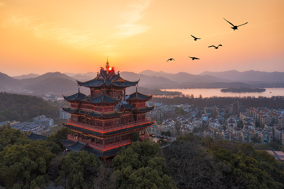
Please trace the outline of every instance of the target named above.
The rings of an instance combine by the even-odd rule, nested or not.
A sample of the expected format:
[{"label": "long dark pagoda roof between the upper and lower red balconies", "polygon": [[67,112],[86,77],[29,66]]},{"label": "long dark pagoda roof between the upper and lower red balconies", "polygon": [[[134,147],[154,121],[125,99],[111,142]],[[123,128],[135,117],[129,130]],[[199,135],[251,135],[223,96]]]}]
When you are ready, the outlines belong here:
[{"label": "long dark pagoda roof between the upper and lower red balconies", "polygon": [[63,123],[63,125],[67,128],[70,128],[70,129],[75,130],[75,131],[80,131],[82,133],[87,133],[87,134],[90,134],[90,135],[93,135],[93,136],[112,136],[112,135],[116,135],[116,134],[120,134],[120,133],[125,133],[125,132],[129,132],[129,131],[135,131],[135,130],[139,130],[139,129],[142,129],[142,128],[146,128],[146,127],[149,127],[153,124],[154,124],[154,122],[149,122],[149,123],[145,123],[145,124],[134,126],[134,127],[124,128],[124,129],[120,129],[120,130],[116,130],[116,131],[110,131],[110,132],[107,132],[107,133],[99,133],[99,132],[88,130],[88,129],[85,129],[85,128],[72,126],[72,125],[69,125],[68,123]]}]

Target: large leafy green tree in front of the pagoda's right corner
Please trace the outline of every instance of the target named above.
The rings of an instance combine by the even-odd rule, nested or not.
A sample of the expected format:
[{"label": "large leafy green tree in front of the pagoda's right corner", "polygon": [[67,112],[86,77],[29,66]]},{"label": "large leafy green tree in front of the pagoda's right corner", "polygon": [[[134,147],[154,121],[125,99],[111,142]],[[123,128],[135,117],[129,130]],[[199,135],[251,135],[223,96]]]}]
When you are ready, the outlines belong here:
[{"label": "large leafy green tree in front of the pagoda's right corner", "polygon": [[112,160],[117,188],[175,188],[161,156],[159,144],[149,139],[122,148]]}]

